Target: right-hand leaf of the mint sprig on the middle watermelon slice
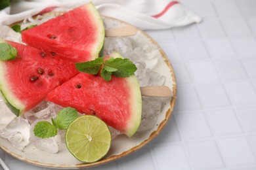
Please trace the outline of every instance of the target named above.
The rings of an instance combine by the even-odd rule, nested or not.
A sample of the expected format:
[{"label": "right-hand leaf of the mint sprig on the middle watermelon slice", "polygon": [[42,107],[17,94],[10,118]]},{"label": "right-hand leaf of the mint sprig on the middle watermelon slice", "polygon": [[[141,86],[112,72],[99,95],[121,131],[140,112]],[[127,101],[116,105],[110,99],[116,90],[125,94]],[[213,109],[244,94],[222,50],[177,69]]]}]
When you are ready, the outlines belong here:
[{"label": "right-hand leaf of the mint sprig on the middle watermelon slice", "polygon": [[107,59],[104,63],[104,66],[117,69],[117,71],[114,71],[112,75],[120,77],[131,76],[137,70],[135,64],[127,58]]}]

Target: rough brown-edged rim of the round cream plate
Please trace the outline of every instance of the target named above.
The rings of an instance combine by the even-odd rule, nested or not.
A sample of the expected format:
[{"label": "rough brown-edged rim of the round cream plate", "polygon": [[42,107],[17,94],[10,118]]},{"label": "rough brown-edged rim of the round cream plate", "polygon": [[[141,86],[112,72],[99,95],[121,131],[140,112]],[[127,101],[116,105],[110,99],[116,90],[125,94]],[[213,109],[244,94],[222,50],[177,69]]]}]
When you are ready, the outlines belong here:
[{"label": "rough brown-edged rim of the round cream plate", "polygon": [[[45,14],[57,14],[58,15],[58,14],[63,14],[63,12],[47,12]],[[128,24],[127,22],[124,22],[122,20],[118,20],[116,18],[112,18],[112,17],[109,17],[109,16],[102,16],[102,19],[104,19],[104,18],[110,19],[110,20],[117,20],[121,24],[130,25],[130,26],[135,27],[134,25]],[[156,42],[146,32],[142,31],[142,29],[139,29],[138,27],[136,27],[136,28],[140,33],[142,33],[144,36],[146,36],[153,44],[155,44],[156,46],[159,47],[158,50],[161,54],[161,57],[164,60],[164,63],[169,68],[169,71],[171,73],[171,78],[173,80],[173,89],[172,89],[173,96],[171,97],[170,107],[167,110],[167,112],[165,112],[165,119],[159,124],[158,128],[155,131],[150,133],[150,136],[148,137],[148,139],[142,141],[142,143],[138,144],[137,146],[134,146],[133,148],[130,148],[129,150],[126,150],[125,152],[122,152],[121,154],[113,155],[113,156],[110,156],[108,158],[103,158],[102,160],[96,161],[94,163],[78,163],[78,164],[75,164],[75,165],[56,165],[56,164],[53,164],[53,163],[41,163],[39,161],[32,161],[32,160],[29,160],[29,159],[26,159],[26,158],[22,158],[22,156],[20,156],[18,154],[15,154],[14,152],[11,152],[7,148],[5,148],[5,146],[0,146],[0,148],[2,150],[4,150],[7,154],[13,156],[14,158],[17,158],[18,160],[24,161],[26,163],[30,163],[32,165],[37,165],[37,166],[40,166],[40,167],[48,167],[48,168],[58,168],[58,169],[74,169],[74,168],[79,169],[79,168],[96,167],[98,165],[104,165],[106,163],[110,163],[112,161],[119,160],[120,158],[128,156],[129,154],[132,154],[133,152],[136,152],[137,150],[140,150],[140,148],[142,148],[146,144],[150,143],[150,141],[152,141],[154,138],[156,138],[156,136],[158,136],[158,134],[163,130],[163,128],[165,127],[167,122],[169,122],[169,120],[171,118],[171,115],[173,113],[173,109],[175,107],[176,97],[177,97],[177,80],[176,80],[176,76],[175,76],[173,66],[171,65],[171,62],[169,61],[169,58],[167,58],[167,55],[165,54],[165,52],[163,51],[161,46],[158,44],[158,42]]]}]

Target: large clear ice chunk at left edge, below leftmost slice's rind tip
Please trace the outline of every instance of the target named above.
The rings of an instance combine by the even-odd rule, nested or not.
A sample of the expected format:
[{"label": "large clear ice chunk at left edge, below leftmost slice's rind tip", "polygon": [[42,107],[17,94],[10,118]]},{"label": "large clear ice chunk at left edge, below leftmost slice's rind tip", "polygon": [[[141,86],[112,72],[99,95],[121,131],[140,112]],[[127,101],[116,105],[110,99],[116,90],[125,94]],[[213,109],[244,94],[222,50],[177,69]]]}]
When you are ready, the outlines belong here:
[{"label": "large clear ice chunk at left edge, below leftmost slice's rind tip", "polygon": [[30,124],[24,118],[14,118],[7,127],[0,131],[0,137],[11,142],[12,146],[22,150],[30,141]]}]

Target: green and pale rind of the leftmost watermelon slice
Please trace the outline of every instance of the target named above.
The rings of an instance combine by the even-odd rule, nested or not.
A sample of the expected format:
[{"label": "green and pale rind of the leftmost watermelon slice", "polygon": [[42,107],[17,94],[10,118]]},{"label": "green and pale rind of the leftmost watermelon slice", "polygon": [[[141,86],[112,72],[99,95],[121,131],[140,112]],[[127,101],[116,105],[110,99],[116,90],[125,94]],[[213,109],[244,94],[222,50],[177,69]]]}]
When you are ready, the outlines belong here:
[{"label": "green and pale rind of the leftmost watermelon slice", "polygon": [[20,116],[23,112],[25,112],[25,106],[16,98],[16,96],[12,93],[11,88],[9,88],[9,84],[6,80],[6,69],[4,61],[0,61],[0,91],[1,95],[3,95],[3,99],[5,104],[9,109],[16,115]]}]

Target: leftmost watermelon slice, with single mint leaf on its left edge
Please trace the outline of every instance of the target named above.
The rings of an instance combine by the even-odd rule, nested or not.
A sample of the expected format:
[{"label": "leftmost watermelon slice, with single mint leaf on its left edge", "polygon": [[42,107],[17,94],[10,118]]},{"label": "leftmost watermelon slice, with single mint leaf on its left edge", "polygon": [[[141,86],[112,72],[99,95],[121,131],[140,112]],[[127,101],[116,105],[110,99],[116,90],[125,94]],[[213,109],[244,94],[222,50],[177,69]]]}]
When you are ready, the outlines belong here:
[{"label": "leftmost watermelon slice, with single mint leaf on its left edge", "polygon": [[16,116],[33,109],[47,93],[78,73],[74,63],[24,44],[6,42],[18,50],[18,58],[0,61],[0,91]]}]

